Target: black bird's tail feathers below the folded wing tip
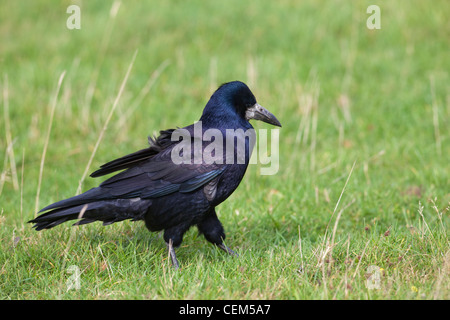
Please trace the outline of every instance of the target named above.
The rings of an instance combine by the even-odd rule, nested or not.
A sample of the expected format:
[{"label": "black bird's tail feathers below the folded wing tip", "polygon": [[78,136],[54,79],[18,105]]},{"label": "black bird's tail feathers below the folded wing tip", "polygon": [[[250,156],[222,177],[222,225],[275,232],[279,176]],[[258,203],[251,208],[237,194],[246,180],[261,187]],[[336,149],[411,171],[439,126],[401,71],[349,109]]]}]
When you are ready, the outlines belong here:
[{"label": "black bird's tail feathers below the folded wing tip", "polygon": [[[132,219],[142,220],[151,200],[98,199],[97,188],[78,196],[56,202],[39,212],[48,211],[33,220],[36,230],[50,229],[69,220],[80,219],[75,225],[102,221],[104,225]],[[97,199],[96,199],[97,198]]]}]

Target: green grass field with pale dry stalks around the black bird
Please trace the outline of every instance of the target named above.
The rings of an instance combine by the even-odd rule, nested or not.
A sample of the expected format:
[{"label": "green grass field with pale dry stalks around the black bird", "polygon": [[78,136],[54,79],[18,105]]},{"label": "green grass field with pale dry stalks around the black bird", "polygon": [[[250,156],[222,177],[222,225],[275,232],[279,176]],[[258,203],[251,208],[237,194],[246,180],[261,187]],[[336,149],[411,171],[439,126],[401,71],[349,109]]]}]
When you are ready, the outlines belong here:
[{"label": "green grass field with pale dry stalks around the black bird", "polygon": [[[70,4],[0,11],[0,298],[450,298],[448,1],[124,2],[114,17],[84,1],[81,30]],[[236,79],[283,124],[279,172],[250,166],[218,208],[239,258],[192,229],[175,271],[143,223],[26,223],[37,198],[77,192],[91,156],[88,172],[192,123]]]}]

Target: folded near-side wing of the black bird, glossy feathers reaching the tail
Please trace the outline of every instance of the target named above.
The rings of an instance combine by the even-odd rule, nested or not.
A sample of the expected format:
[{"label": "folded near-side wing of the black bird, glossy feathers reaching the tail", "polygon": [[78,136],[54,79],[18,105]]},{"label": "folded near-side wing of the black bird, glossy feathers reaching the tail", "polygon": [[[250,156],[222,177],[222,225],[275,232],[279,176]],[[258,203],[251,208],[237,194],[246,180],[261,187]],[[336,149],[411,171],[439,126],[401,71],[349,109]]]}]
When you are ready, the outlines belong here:
[{"label": "folded near-side wing of the black bird, glossy feathers reaching the tail", "polygon": [[[124,161],[115,168],[121,168],[126,163],[127,170],[110,177],[97,188],[53,203],[40,212],[102,200],[154,199],[174,192],[192,192],[201,187],[204,187],[207,199],[212,201],[217,182],[228,165],[215,163],[176,164],[172,161],[171,153],[172,148],[169,147],[148,158],[141,157],[134,162]],[[121,159],[132,159],[133,157],[132,154]],[[119,161],[116,163],[119,163]]]}]

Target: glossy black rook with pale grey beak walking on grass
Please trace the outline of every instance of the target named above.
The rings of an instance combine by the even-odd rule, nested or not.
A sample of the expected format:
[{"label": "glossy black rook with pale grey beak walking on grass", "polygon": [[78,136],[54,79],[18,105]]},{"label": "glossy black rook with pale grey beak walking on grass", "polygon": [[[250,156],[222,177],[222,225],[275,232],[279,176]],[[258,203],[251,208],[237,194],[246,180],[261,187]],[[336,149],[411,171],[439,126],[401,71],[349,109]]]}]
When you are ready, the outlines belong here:
[{"label": "glossy black rook with pale grey beak walking on grass", "polygon": [[[43,208],[39,213],[45,213],[29,222],[42,230],[74,219],[80,219],[75,225],[144,220],[150,231],[164,230],[176,268],[174,248],[196,225],[206,240],[236,255],[223,243],[225,232],[215,207],[233,193],[247,169],[254,142],[251,119],[281,127],[246,84],[225,83],[211,96],[199,122],[149,137],[148,148],[102,165],[91,177],[124,171],[96,188]],[[214,139],[207,137],[208,130],[215,133]],[[238,133],[231,135],[232,144],[230,132]],[[222,141],[219,134],[225,137]]]}]

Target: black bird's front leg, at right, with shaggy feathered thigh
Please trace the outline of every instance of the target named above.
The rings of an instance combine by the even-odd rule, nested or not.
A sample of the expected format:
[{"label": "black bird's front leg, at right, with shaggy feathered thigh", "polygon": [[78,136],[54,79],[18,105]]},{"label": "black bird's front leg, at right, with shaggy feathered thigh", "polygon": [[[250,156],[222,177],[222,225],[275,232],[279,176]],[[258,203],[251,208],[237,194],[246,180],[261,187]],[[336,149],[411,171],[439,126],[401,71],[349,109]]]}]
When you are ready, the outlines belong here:
[{"label": "black bird's front leg, at right, with shaggy feathered thigh", "polygon": [[236,252],[228,248],[223,243],[223,241],[225,240],[225,231],[223,230],[223,226],[217,218],[217,214],[214,208],[211,209],[211,211],[207,213],[205,218],[197,224],[197,227],[200,233],[203,233],[206,240],[213,243],[232,256],[239,256]]}]

